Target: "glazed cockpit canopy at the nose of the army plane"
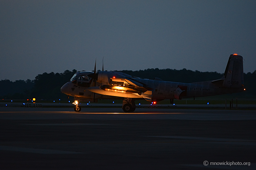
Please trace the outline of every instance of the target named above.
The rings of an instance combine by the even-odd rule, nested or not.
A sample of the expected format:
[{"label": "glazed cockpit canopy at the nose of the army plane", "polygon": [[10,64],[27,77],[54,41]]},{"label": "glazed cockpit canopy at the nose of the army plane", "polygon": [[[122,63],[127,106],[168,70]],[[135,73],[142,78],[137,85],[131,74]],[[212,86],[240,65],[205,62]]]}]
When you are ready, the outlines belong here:
[{"label": "glazed cockpit canopy at the nose of the army plane", "polygon": [[73,84],[80,87],[90,87],[92,83],[92,78],[88,77],[89,74],[93,74],[93,72],[92,71],[76,72],[69,81],[71,81]]}]

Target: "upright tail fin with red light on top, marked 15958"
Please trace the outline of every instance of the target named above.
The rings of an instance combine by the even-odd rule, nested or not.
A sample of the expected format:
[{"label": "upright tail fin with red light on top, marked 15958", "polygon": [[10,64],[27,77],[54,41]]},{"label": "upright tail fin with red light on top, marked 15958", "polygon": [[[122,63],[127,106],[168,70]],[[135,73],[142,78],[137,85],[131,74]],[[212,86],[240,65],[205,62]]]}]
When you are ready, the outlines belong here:
[{"label": "upright tail fin with red light on top, marked 15958", "polygon": [[224,73],[223,86],[228,88],[240,88],[244,85],[243,57],[231,54]]}]

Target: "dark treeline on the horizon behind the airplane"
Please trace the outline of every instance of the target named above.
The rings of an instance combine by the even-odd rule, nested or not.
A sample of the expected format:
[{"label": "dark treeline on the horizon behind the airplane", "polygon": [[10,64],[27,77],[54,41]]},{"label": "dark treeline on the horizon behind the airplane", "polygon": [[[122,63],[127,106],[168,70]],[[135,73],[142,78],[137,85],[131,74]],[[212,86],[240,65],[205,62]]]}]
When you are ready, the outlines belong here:
[{"label": "dark treeline on the horizon behind the airplane", "polygon": [[[217,72],[201,72],[192,70],[172,69],[146,69],[139,71],[123,70],[123,73],[133,77],[154,79],[161,78],[164,81],[192,83],[207,80],[216,80],[223,76]],[[56,100],[67,99],[65,94],[60,93],[60,87],[64,85],[76,73],[76,70],[66,70],[64,73],[43,73],[36,76],[35,80],[10,80],[0,81],[1,99],[32,99]],[[244,85],[246,94],[250,98],[256,98],[256,70],[244,73]]]}]

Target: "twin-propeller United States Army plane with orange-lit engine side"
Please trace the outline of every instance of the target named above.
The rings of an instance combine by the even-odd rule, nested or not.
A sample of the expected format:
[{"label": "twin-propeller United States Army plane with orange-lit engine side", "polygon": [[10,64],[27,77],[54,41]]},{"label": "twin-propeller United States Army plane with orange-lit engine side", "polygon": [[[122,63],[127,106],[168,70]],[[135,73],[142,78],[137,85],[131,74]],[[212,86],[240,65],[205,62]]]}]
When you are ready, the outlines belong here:
[{"label": "twin-propeller United States Army plane with orange-lit engine side", "polygon": [[[103,67],[102,67],[103,70]],[[123,100],[124,112],[133,112],[135,100],[158,102],[165,99],[181,100],[242,92],[244,89],[243,57],[231,54],[224,76],[218,80],[196,83],[177,83],[163,81],[160,78],[149,80],[132,77],[117,71],[76,72],[68,83],[61,87],[61,92],[74,96],[76,112],[81,111],[79,101],[97,102],[98,99]]]}]

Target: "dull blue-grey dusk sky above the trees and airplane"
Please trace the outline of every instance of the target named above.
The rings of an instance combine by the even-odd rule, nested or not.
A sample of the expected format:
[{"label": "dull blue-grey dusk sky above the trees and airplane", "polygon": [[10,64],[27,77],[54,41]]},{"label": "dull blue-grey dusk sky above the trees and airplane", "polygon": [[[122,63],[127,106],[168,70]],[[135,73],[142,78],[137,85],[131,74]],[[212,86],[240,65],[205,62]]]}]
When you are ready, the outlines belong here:
[{"label": "dull blue-grey dusk sky above the trees and airplane", "polygon": [[256,1],[0,1],[0,80],[102,68],[256,70]]}]

